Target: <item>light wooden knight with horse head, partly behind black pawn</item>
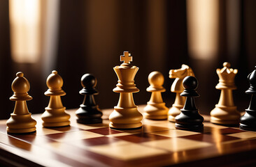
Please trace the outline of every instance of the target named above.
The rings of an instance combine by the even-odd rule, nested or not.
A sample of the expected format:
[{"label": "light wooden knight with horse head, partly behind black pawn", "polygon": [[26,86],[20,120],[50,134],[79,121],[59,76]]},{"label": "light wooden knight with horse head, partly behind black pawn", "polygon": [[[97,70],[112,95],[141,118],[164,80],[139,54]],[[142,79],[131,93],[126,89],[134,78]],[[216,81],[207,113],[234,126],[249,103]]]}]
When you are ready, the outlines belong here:
[{"label": "light wooden knight with horse head, partly behind black pawn", "polygon": [[176,116],[180,114],[180,109],[182,109],[185,104],[185,97],[180,96],[180,93],[184,90],[183,79],[187,76],[194,77],[194,72],[188,65],[181,65],[180,69],[170,70],[169,72],[169,78],[175,78],[171,85],[171,92],[176,93],[175,102],[168,112],[168,120],[170,122],[175,122]]}]

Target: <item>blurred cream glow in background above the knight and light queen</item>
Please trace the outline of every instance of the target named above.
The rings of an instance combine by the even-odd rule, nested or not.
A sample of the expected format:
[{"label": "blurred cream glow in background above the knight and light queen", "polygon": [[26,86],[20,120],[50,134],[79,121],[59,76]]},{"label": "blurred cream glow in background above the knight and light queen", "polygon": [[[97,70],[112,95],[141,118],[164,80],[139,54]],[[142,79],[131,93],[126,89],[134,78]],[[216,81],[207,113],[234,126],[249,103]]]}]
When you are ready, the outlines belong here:
[{"label": "blurred cream glow in background above the knight and light queen", "polygon": [[218,1],[187,0],[187,38],[193,58],[213,58],[218,51]]}]

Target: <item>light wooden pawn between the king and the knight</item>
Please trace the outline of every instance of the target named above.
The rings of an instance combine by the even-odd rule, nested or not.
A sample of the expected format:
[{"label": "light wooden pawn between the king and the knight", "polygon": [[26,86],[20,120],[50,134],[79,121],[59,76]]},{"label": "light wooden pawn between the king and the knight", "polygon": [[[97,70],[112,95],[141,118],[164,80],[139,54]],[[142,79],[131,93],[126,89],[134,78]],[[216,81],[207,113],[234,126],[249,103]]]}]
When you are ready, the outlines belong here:
[{"label": "light wooden pawn between the king and the knight", "polygon": [[151,92],[150,101],[145,106],[145,118],[151,120],[166,120],[168,108],[162,100],[162,92],[165,92],[164,76],[161,72],[151,72],[148,75],[148,82],[150,86],[147,88],[148,92]]}]

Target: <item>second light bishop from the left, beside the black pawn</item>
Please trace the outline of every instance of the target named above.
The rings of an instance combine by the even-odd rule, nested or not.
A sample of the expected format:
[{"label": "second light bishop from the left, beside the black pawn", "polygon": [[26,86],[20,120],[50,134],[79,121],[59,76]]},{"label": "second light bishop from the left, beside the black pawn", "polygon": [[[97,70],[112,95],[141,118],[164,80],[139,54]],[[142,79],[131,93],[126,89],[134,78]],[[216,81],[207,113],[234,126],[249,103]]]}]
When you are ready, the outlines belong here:
[{"label": "second light bishop from the left, beside the black pawn", "polygon": [[64,127],[69,126],[69,114],[65,112],[66,107],[62,105],[61,96],[66,95],[62,90],[63,80],[62,77],[57,74],[57,71],[53,70],[47,78],[46,84],[48,90],[45,92],[46,96],[50,96],[50,102],[45,107],[45,112],[42,115],[44,127]]}]

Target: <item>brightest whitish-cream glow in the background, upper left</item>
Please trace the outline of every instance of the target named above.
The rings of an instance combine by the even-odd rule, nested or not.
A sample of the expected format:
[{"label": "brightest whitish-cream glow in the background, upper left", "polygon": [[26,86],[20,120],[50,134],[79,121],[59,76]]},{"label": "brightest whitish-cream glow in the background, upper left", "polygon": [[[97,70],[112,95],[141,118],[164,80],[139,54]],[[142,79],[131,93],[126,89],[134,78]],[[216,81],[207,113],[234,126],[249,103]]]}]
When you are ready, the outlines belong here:
[{"label": "brightest whitish-cream glow in the background, upper left", "polygon": [[40,57],[40,0],[9,0],[13,61],[36,63]]}]

